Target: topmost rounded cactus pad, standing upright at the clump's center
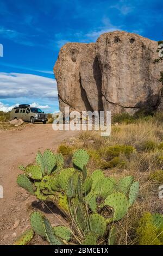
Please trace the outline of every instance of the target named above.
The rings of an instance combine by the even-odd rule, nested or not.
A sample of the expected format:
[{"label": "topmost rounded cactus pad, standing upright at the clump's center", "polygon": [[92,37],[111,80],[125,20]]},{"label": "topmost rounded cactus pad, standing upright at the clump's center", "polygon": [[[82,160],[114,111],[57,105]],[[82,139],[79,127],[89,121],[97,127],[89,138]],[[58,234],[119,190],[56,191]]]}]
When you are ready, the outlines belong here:
[{"label": "topmost rounded cactus pad, standing upright at the clump's center", "polygon": [[86,166],[89,161],[89,155],[84,149],[78,149],[73,154],[73,164],[78,167],[80,170],[83,170],[84,166]]}]

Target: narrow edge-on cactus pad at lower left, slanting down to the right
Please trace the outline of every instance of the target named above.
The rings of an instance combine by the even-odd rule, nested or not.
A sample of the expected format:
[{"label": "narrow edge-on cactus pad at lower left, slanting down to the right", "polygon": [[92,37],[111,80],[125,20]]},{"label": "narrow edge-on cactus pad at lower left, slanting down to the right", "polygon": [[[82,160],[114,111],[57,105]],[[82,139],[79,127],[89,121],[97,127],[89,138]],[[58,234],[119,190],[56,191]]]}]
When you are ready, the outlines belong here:
[{"label": "narrow edge-on cactus pad at lower left, slanting down to the right", "polygon": [[48,221],[48,219],[45,216],[43,217],[43,223],[44,223],[46,237],[47,237],[48,242],[51,245],[64,245],[64,243],[62,243],[58,239],[58,237],[54,234],[54,230],[51,226],[51,223]]}]

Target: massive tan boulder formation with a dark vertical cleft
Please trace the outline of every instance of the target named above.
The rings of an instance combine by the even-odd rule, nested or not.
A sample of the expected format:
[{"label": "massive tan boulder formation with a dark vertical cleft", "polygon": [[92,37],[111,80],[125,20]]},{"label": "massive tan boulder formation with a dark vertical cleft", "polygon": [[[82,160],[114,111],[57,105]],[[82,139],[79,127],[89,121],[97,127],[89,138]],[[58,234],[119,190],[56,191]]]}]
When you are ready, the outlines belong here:
[{"label": "massive tan boulder formation with a dark vertical cleft", "polygon": [[66,44],[54,66],[60,110],[133,114],[162,108],[157,49],[155,41],[120,31],[102,34],[95,44]]}]

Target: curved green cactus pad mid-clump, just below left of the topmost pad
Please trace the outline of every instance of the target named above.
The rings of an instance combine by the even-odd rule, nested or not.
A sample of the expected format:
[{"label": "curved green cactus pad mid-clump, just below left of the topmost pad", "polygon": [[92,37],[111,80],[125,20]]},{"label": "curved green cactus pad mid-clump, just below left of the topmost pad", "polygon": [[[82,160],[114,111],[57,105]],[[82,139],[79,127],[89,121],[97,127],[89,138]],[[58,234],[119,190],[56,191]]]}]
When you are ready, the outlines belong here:
[{"label": "curved green cactus pad mid-clump, just below left of the topmost pad", "polygon": [[63,191],[66,191],[68,179],[70,178],[70,176],[73,173],[74,173],[73,168],[66,168],[66,169],[61,170],[59,177],[58,177],[58,181],[59,181],[59,185]]}]

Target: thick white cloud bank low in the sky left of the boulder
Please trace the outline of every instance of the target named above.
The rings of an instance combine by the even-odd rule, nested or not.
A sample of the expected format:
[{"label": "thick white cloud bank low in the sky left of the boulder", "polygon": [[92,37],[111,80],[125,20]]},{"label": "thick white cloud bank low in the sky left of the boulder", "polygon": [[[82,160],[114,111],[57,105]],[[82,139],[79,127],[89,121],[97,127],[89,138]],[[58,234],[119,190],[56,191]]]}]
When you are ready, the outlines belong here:
[{"label": "thick white cloud bank low in the sky left of the boulder", "polygon": [[0,99],[28,97],[57,99],[57,82],[52,78],[32,74],[0,72]]}]

